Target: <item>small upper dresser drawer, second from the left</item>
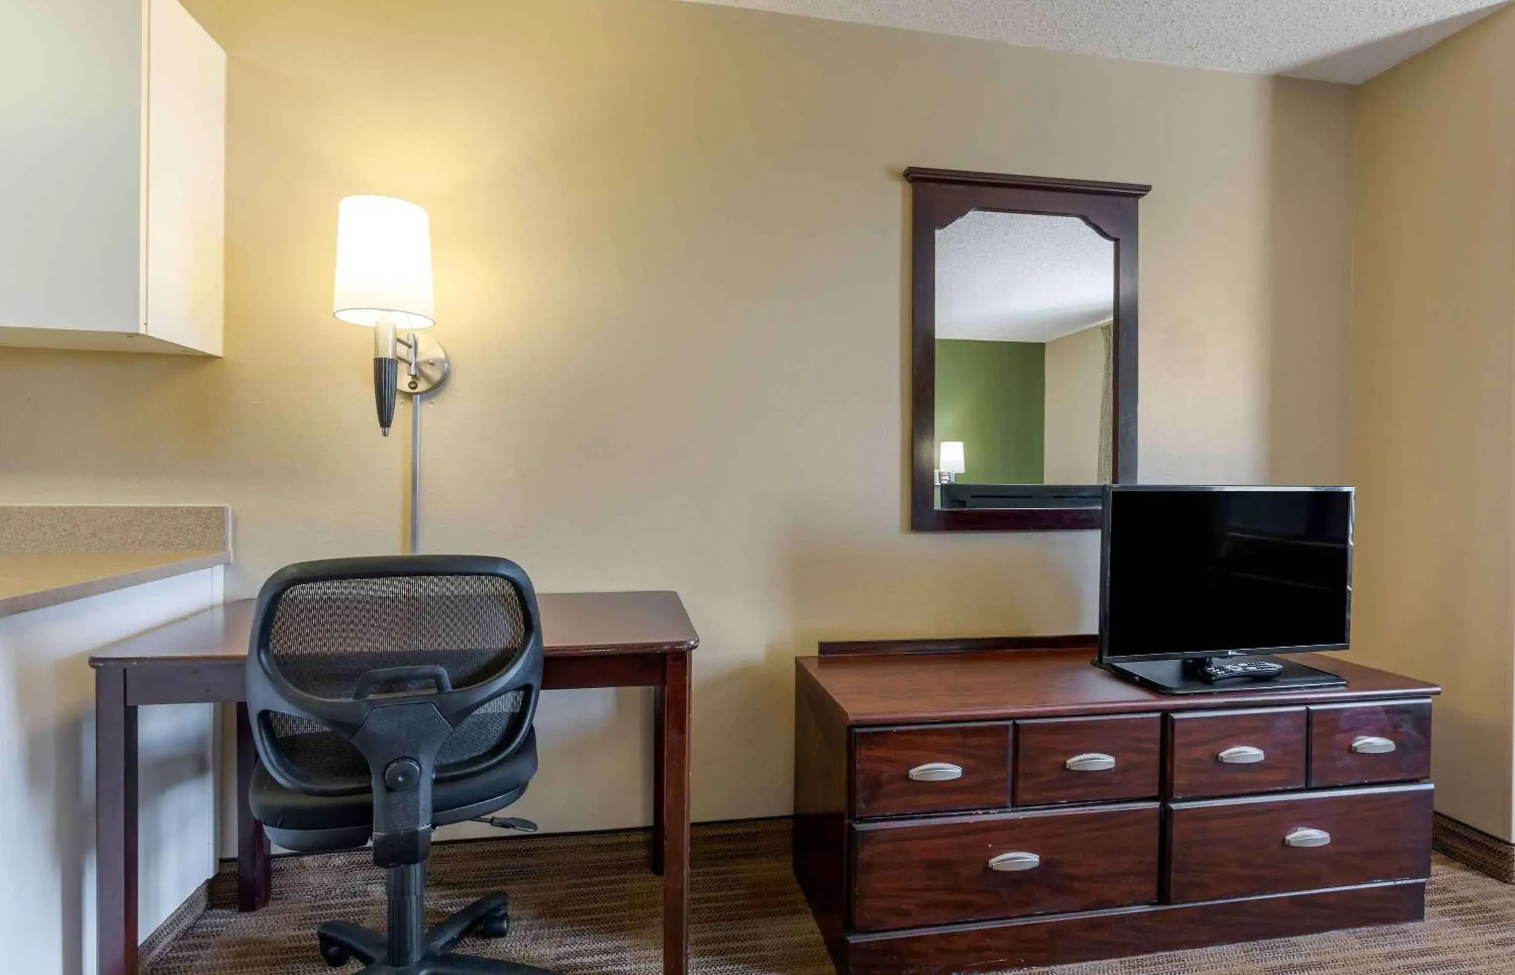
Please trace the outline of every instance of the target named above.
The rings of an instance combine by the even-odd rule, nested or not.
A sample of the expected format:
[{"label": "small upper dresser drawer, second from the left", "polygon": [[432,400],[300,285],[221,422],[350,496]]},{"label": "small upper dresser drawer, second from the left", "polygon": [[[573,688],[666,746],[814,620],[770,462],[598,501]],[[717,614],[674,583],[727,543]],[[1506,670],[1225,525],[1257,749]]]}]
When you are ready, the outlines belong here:
[{"label": "small upper dresser drawer, second from the left", "polygon": [[1151,799],[1162,769],[1162,717],[1015,722],[1014,805]]}]

